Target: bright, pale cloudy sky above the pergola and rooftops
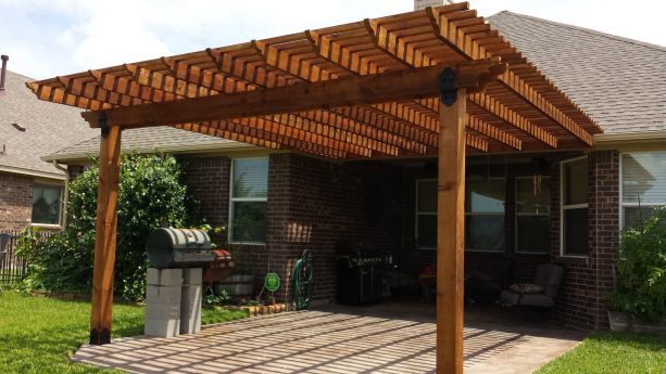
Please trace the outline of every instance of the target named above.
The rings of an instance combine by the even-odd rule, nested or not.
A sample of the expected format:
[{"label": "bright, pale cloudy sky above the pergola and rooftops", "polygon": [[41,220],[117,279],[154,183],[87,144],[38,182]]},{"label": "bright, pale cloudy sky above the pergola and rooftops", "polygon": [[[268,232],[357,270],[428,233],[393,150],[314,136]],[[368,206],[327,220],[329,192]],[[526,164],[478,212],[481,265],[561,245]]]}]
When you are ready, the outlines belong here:
[{"label": "bright, pale cloudy sky above the pergola and rooftops", "polygon": [[[659,0],[470,0],[666,46]],[[36,79],[413,10],[413,0],[0,0],[0,53]]]}]

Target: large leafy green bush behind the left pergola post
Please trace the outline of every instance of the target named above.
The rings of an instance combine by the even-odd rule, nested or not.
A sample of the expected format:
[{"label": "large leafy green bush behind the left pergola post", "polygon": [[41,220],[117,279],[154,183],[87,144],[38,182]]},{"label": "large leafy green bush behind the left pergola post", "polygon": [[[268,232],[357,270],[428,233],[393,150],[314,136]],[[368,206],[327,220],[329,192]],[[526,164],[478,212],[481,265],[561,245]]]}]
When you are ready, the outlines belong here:
[{"label": "large leafy green bush behind the left pergola post", "polygon": [[[97,163],[92,163],[97,165]],[[21,255],[28,260],[26,289],[90,293],[97,217],[97,166],[88,168],[70,185],[70,223],[45,241],[25,233]],[[163,222],[183,227],[188,222],[186,186],[173,156],[124,156],[121,162],[115,293],[141,300],[146,292],[146,237]]]}]

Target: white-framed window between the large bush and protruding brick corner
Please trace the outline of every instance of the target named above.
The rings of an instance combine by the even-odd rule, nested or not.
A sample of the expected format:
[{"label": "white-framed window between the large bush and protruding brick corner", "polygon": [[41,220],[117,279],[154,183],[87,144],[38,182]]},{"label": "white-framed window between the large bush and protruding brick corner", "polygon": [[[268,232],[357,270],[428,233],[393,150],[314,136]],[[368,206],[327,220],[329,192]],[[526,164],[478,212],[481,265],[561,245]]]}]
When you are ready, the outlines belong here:
[{"label": "white-framed window between the large bush and protruding brick corner", "polygon": [[268,158],[237,158],[231,163],[230,242],[266,241]]}]

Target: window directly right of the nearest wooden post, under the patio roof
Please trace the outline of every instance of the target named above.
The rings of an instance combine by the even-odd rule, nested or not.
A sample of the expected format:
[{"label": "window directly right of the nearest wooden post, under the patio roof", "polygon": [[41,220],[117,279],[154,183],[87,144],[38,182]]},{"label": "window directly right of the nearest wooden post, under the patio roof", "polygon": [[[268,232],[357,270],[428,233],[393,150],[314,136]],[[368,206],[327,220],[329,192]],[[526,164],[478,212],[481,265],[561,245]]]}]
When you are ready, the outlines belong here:
[{"label": "window directly right of the nearest wooden post, under the patio roof", "polygon": [[465,196],[465,248],[469,250],[504,250],[505,181],[469,178]]}]

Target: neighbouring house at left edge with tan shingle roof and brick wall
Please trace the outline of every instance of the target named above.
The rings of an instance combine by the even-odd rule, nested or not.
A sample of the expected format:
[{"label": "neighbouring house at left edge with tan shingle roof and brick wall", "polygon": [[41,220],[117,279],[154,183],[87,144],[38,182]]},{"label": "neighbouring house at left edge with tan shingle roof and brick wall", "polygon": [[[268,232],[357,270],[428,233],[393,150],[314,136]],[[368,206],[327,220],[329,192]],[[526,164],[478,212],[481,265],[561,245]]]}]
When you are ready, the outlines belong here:
[{"label": "neighbouring house at left edge with tan shingle roof and brick wall", "polygon": [[25,87],[33,79],[7,69],[2,77],[0,232],[23,230],[29,224],[58,229],[64,219],[66,173],[39,157],[97,133],[77,109],[37,100]]}]

